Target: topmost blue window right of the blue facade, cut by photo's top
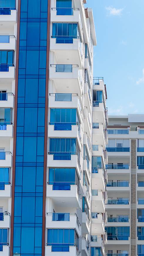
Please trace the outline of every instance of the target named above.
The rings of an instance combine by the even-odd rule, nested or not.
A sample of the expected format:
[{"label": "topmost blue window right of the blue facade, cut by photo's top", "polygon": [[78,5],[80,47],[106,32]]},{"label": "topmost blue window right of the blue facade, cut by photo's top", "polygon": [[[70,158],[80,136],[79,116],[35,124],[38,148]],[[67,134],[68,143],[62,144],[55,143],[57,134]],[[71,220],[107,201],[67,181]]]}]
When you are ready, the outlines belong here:
[{"label": "topmost blue window right of the blue facade, cut by photo's top", "polygon": [[72,0],[56,0],[56,15],[73,15]]}]

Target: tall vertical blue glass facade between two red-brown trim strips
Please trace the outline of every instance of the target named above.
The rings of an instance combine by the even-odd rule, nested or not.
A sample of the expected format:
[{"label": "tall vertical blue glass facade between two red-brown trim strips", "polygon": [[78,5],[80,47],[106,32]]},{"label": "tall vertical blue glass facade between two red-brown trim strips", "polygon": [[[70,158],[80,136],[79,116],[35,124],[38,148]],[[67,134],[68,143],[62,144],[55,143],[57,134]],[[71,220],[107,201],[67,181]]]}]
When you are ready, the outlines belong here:
[{"label": "tall vertical blue glass facade between two red-brown trim strips", "polygon": [[[21,0],[13,253],[42,253],[48,1]],[[49,49],[48,49],[49,50]]]}]

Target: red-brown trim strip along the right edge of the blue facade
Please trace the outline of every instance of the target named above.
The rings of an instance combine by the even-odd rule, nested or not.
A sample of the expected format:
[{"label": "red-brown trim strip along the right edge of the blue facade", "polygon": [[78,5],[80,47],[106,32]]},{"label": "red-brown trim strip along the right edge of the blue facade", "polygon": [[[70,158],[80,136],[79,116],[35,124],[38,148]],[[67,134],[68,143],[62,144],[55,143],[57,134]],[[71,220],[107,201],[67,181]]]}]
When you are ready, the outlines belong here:
[{"label": "red-brown trim strip along the right edge of the blue facade", "polygon": [[43,167],[42,256],[45,256],[45,232],[46,232],[46,169],[47,169],[47,141],[48,141],[48,80],[49,80],[51,0],[48,0],[48,21],[47,22],[48,23],[47,23],[46,101],[45,101],[44,167]]}]

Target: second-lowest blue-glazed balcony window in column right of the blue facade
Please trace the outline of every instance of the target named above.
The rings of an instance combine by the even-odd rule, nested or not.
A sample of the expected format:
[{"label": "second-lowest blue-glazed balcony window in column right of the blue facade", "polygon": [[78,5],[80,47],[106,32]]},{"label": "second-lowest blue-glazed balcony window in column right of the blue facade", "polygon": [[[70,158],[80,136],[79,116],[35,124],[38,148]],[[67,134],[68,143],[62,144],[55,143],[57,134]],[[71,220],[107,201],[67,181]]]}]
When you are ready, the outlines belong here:
[{"label": "second-lowest blue-glazed balcony window in column right of the blue facade", "polygon": [[79,178],[76,169],[49,168],[49,184],[53,190],[71,190],[71,185],[77,185],[79,190]]}]

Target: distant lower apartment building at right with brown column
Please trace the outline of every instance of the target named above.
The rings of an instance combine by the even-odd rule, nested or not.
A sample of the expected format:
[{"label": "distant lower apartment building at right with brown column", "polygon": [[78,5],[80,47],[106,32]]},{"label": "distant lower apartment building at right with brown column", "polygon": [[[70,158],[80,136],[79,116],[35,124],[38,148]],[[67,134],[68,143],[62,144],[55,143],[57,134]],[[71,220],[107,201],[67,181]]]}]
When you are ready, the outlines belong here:
[{"label": "distant lower apartment building at right with brown column", "polygon": [[109,116],[107,256],[144,253],[144,115]]}]

